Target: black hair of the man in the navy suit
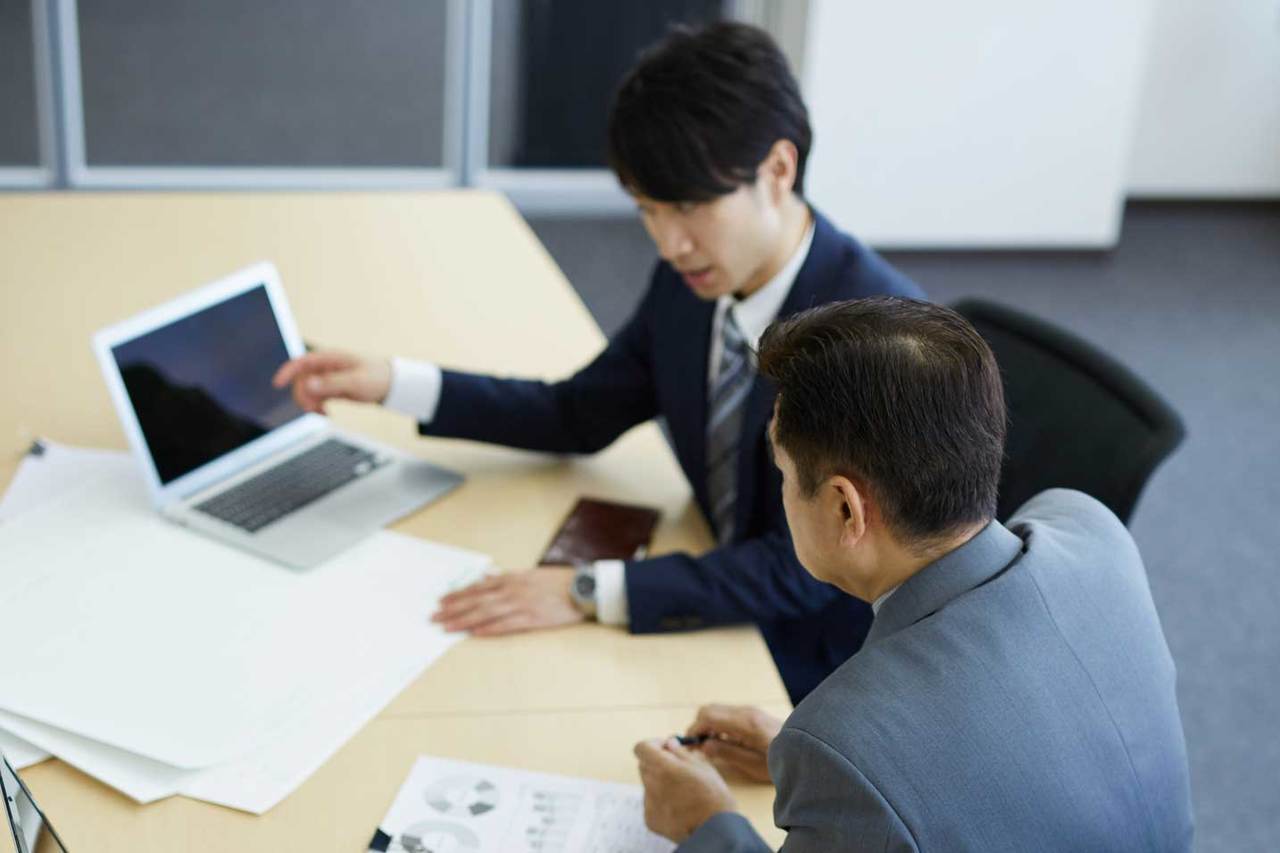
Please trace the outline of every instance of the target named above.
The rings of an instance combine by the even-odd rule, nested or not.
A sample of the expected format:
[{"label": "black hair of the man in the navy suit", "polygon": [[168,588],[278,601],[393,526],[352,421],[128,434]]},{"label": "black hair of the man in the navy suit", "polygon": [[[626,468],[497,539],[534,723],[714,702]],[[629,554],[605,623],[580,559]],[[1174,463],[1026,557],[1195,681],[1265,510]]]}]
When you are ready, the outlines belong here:
[{"label": "black hair of the man in the navy suit", "polygon": [[796,195],[813,143],[809,111],[767,32],[722,20],[673,27],[618,85],[608,159],[628,191],[712,201],[755,181],[778,140],[796,146]]}]

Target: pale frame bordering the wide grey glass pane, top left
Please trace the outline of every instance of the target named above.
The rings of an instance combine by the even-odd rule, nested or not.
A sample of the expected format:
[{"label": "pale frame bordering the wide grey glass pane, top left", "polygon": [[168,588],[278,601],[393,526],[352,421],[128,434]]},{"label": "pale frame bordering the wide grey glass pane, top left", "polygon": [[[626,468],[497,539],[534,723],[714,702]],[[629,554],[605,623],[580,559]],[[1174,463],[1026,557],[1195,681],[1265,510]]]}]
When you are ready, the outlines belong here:
[{"label": "pale frame bordering the wide grey glass pane, top left", "polygon": [[467,0],[445,0],[440,167],[110,167],[87,161],[77,0],[56,0],[67,183],[86,190],[445,190],[461,186],[466,128]]}]

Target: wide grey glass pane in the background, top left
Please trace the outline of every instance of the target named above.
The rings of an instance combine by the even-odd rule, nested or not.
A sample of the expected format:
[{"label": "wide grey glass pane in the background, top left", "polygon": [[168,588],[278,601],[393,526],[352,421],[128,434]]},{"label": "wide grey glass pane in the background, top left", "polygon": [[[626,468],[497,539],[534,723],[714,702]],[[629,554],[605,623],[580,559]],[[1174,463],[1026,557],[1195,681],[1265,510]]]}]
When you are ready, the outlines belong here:
[{"label": "wide grey glass pane in the background, top left", "polygon": [[440,167],[447,8],[81,0],[86,159]]}]

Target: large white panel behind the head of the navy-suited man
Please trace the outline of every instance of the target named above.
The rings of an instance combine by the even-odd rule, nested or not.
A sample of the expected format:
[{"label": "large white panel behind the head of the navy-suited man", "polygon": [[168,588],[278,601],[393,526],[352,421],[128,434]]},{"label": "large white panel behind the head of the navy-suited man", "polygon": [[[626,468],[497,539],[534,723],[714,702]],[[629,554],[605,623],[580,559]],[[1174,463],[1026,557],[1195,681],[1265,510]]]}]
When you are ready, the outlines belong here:
[{"label": "large white panel behind the head of the navy-suited man", "polygon": [[1152,9],[810,0],[808,195],[878,246],[1114,245]]}]

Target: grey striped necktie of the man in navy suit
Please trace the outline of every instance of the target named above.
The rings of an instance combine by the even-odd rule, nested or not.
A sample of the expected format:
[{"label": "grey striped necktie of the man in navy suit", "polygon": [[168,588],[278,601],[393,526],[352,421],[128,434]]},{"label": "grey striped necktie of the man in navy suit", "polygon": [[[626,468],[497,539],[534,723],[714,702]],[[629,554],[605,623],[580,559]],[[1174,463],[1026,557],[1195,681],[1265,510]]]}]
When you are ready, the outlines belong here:
[{"label": "grey striped necktie of the man in navy suit", "polygon": [[732,311],[724,313],[722,325],[719,371],[707,406],[707,492],[719,543],[728,544],[733,538],[733,508],[737,505],[737,446],[742,438],[742,410],[755,371]]}]

